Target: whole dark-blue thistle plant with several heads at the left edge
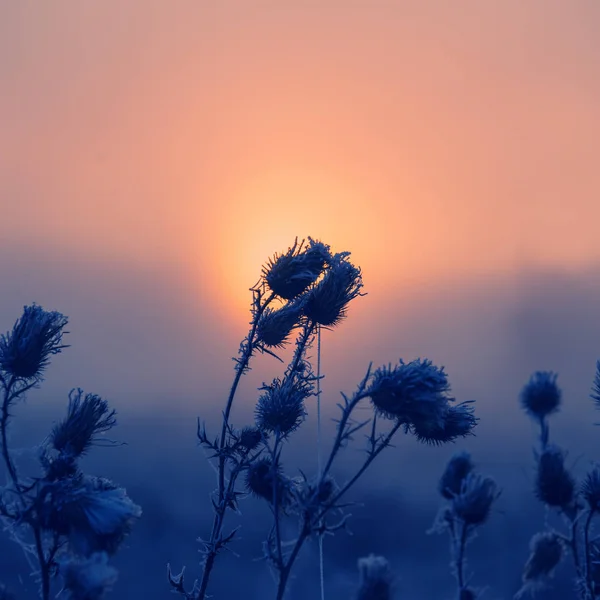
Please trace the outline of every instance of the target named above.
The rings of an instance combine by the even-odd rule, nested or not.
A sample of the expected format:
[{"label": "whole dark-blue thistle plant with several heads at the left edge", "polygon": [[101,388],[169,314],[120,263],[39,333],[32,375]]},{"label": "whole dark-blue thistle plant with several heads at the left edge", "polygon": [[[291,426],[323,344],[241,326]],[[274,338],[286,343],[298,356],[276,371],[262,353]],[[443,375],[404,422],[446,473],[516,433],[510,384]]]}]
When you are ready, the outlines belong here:
[{"label": "whole dark-blue thistle plant with several heads at the left edge", "polygon": [[77,600],[101,598],[116,571],[106,564],[141,515],[124,489],[84,474],[79,459],[116,425],[115,411],[96,394],[69,394],[66,417],[40,446],[40,472],[24,476],[8,444],[10,406],[42,379],[62,344],[66,317],[26,306],[13,331],[0,340],[2,459],[9,484],[0,489],[0,516],[12,539],[36,565],[40,595],[53,580]]}]

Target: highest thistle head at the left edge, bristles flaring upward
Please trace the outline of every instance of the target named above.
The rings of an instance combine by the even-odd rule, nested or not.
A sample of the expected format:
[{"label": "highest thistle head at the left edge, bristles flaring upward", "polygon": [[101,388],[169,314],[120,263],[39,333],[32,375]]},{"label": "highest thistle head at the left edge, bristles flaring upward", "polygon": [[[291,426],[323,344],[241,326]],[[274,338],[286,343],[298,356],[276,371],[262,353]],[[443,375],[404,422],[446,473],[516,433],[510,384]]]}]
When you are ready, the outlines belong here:
[{"label": "highest thistle head at the left edge, bristles flaring upward", "polygon": [[68,347],[62,343],[67,322],[59,312],[25,306],[12,331],[0,336],[0,370],[20,379],[39,379],[50,356]]}]

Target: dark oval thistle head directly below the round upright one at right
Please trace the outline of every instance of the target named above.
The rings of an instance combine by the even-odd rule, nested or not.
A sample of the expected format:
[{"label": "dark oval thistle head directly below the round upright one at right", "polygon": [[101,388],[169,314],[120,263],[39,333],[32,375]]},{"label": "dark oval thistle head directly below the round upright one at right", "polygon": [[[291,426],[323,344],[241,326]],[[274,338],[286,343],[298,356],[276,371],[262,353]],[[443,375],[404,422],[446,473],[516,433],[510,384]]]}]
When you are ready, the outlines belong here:
[{"label": "dark oval thistle head directly below the round upright one at right", "polygon": [[573,501],[575,480],[565,468],[565,455],[560,448],[548,446],[539,455],[535,493],[548,506],[566,508]]}]

